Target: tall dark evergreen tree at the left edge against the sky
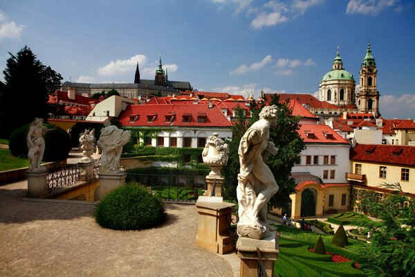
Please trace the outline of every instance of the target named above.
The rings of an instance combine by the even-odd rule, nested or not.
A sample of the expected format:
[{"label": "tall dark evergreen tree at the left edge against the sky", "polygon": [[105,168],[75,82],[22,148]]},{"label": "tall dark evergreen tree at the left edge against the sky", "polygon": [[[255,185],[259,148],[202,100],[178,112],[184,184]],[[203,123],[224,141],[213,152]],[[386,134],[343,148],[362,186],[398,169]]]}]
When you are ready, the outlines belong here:
[{"label": "tall dark evergreen tree at the left edge against the sky", "polygon": [[34,118],[46,118],[48,93],[59,88],[62,81],[62,76],[37,60],[28,46],[21,48],[17,55],[9,54],[0,98],[0,136],[3,138]]}]

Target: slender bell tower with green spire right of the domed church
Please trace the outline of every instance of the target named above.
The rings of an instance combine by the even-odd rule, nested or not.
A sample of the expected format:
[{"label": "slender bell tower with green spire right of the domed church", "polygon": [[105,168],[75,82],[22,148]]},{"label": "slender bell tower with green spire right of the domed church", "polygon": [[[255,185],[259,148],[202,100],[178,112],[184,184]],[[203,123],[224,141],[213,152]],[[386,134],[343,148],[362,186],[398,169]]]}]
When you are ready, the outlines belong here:
[{"label": "slender bell tower with green spire right of the domed church", "polygon": [[370,44],[367,44],[366,55],[360,66],[360,85],[356,100],[359,112],[371,112],[375,117],[380,116],[377,74],[375,58],[371,55]]}]

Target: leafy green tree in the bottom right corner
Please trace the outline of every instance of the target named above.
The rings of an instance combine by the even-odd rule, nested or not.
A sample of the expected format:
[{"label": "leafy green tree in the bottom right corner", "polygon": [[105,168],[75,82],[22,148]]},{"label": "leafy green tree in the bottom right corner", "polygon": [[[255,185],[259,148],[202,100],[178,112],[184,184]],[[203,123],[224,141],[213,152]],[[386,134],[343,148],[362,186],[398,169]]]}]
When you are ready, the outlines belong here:
[{"label": "leafy green tree in the bottom right corner", "polygon": [[361,269],[366,276],[415,276],[415,199],[399,183],[381,186],[396,193],[360,204],[378,218],[360,223],[372,233]]}]

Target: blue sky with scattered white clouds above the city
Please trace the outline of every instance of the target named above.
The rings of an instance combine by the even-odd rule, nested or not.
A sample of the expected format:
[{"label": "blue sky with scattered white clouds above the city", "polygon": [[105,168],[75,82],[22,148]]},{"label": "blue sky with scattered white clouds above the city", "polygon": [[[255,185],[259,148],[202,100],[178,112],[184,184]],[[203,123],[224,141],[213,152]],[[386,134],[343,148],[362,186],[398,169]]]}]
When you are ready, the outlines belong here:
[{"label": "blue sky with scattered white clouds above the city", "polygon": [[194,89],[314,94],[338,46],[358,80],[368,41],[382,116],[415,119],[414,1],[0,1],[0,70],[27,45],[74,82],[153,79],[162,55]]}]

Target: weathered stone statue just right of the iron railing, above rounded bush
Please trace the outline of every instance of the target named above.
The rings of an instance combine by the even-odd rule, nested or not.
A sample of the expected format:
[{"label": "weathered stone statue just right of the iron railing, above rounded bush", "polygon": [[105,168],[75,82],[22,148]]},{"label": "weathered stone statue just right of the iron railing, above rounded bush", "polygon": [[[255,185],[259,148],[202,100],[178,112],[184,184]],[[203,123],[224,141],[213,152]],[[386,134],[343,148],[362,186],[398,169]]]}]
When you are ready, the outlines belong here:
[{"label": "weathered stone statue just right of the iron railing, above rounded bush", "polygon": [[129,141],[130,136],[131,131],[118,129],[118,127],[111,125],[109,120],[104,122],[104,127],[101,129],[100,139],[98,140],[98,146],[102,149],[102,173],[121,172],[120,157],[122,146]]}]

